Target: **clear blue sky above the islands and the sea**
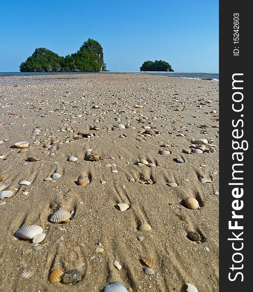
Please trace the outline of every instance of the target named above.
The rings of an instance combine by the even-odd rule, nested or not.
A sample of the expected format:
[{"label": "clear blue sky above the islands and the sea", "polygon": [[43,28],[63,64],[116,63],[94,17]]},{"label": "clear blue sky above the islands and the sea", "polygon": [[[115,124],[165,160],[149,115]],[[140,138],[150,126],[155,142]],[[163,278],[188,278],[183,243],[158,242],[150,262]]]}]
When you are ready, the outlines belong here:
[{"label": "clear blue sky above the islands and the sea", "polygon": [[65,56],[88,38],[110,71],[162,59],[218,73],[218,0],[0,0],[0,72],[18,72],[36,48]]}]

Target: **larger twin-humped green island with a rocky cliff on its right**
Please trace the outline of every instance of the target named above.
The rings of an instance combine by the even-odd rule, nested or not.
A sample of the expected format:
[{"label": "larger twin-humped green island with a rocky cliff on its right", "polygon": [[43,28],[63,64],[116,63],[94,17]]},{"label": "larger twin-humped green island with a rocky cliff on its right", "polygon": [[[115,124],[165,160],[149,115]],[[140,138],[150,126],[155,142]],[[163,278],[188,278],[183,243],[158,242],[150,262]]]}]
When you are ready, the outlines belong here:
[{"label": "larger twin-humped green island with a rocky cliff on its right", "polygon": [[38,48],[19,68],[20,72],[99,72],[106,70],[106,64],[102,46],[89,38],[76,53],[66,57]]}]

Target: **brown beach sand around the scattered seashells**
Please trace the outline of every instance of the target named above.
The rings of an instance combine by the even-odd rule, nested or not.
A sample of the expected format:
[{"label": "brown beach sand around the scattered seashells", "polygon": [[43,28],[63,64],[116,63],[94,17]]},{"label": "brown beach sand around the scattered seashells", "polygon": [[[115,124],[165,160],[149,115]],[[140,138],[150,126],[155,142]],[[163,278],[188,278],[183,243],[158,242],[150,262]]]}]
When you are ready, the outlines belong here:
[{"label": "brown beach sand around the scattered seashells", "polygon": [[[187,282],[199,292],[218,291],[218,82],[137,74],[18,78],[0,82],[0,175],[13,191],[0,200],[6,202],[0,205],[0,291],[100,292],[113,281],[134,292],[181,292]],[[113,130],[116,124],[126,129]],[[41,133],[33,134],[36,128]],[[213,146],[182,153],[198,138]],[[20,141],[30,143],[27,152],[18,153]],[[52,142],[56,150],[43,147]],[[87,149],[102,160],[85,160]],[[159,154],[163,149],[171,154]],[[140,159],[156,167],[137,165]],[[45,182],[54,172],[61,177]],[[76,185],[79,176],[90,183]],[[142,183],[147,179],[153,184]],[[22,180],[31,184],[19,185]],[[188,197],[200,209],[186,208]],[[49,221],[54,201],[72,213],[67,224]],[[120,202],[130,208],[117,210]],[[143,223],[152,230],[139,231]],[[15,237],[31,224],[43,228],[41,243]],[[200,243],[187,238],[194,231]],[[153,275],[143,271],[146,256],[155,260]],[[82,280],[49,283],[54,269],[78,269]]]}]

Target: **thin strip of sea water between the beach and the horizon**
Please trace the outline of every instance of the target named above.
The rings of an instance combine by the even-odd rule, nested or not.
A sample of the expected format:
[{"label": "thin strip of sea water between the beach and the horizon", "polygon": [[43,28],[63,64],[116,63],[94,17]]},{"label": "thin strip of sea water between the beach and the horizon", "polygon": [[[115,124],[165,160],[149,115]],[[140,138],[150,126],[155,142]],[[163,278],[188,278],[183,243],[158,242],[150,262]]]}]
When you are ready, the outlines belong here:
[{"label": "thin strip of sea water between the beach and the horizon", "polygon": [[[140,71],[109,71],[109,72],[99,72],[96,74],[111,74],[111,73],[134,73],[142,75],[154,75],[154,76],[164,76],[164,77],[180,77],[180,78],[190,78],[190,79],[209,79],[209,80],[219,80],[218,73],[198,73],[198,72],[140,72]],[[94,74],[92,72],[0,72],[0,82],[1,81],[19,81],[22,80],[20,76],[36,76],[36,75],[70,75],[70,74]],[[10,78],[13,77],[13,78]],[[66,76],[67,77],[67,76]]]}]

